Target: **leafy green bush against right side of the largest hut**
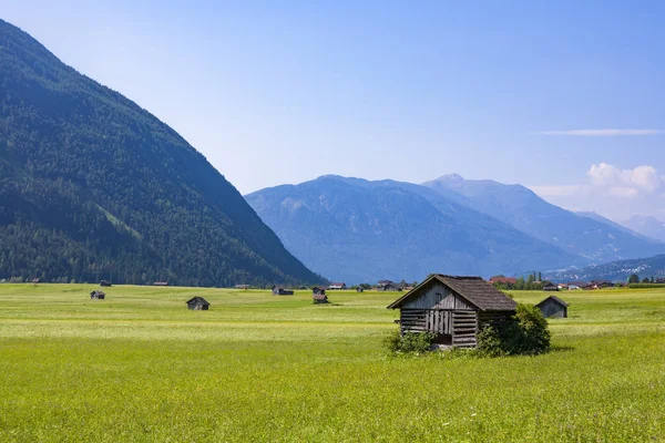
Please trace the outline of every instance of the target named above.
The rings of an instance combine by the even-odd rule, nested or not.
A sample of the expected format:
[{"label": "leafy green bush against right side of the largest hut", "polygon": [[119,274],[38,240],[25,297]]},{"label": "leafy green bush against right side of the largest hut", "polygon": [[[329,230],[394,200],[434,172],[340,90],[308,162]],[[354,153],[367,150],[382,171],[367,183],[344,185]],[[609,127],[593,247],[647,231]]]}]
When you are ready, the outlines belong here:
[{"label": "leafy green bush against right side of the largest hut", "polygon": [[548,320],[531,305],[518,305],[510,321],[484,328],[478,334],[478,351],[488,357],[535,356],[550,350]]}]

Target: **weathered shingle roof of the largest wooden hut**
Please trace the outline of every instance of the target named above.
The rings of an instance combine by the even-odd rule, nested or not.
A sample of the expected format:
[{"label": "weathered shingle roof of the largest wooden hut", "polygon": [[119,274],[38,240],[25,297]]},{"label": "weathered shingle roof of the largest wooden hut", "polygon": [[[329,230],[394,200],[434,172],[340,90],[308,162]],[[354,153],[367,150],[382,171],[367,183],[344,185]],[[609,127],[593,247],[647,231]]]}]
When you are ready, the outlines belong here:
[{"label": "weathered shingle roof of the largest wooden hut", "polygon": [[436,279],[452,289],[453,292],[462,296],[481,311],[514,311],[518,307],[518,303],[513,299],[494,288],[481,277],[459,277],[432,274],[388,308],[399,308],[409,298],[418,296],[420,289],[432,281],[432,279]]}]

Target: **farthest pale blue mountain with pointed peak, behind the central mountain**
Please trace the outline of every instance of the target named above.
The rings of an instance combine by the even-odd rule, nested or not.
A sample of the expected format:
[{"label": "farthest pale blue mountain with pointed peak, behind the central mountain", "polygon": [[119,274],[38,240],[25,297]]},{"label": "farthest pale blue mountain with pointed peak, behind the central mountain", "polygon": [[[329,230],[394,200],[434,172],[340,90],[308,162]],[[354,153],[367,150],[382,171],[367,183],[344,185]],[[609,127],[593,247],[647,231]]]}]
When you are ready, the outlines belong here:
[{"label": "farthest pale blue mountain with pointed peak, behind the central mountain", "polygon": [[522,185],[468,181],[454,174],[422,185],[524,234],[579,255],[589,264],[665,253],[665,245],[659,241],[562,209]]}]

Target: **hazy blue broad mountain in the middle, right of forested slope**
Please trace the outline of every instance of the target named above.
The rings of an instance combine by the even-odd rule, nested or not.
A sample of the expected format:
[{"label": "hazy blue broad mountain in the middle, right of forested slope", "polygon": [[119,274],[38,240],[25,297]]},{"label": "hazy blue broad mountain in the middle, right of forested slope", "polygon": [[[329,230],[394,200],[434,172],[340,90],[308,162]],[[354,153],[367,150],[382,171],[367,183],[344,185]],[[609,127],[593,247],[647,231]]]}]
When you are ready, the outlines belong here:
[{"label": "hazy blue broad mountain in the middle, right of forested slope", "polygon": [[296,257],[347,282],[581,264],[572,254],[408,183],[323,176],[245,198]]}]

